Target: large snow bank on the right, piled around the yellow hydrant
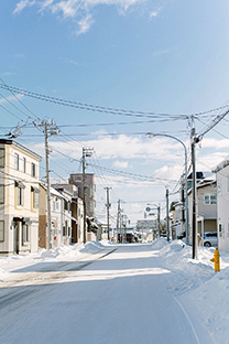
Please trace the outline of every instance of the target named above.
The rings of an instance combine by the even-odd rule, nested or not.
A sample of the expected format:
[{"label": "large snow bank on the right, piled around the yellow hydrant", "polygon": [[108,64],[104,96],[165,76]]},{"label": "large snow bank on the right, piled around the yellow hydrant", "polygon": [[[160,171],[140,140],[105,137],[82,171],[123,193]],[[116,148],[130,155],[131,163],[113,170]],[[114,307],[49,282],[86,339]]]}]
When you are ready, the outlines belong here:
[{"label": "large snow bank on the right, piled around the yellow hydrant", "polygon": [[162,245],[155,240],[159,264],[171,270],[170,284],[176,298],[196,310],[198,319],[217,344],[229,343],[229,254],[220,252],[220,272],[215,272],[215,248],[198,247],[198,258],[192,259],[193,247],[174,240]]}]

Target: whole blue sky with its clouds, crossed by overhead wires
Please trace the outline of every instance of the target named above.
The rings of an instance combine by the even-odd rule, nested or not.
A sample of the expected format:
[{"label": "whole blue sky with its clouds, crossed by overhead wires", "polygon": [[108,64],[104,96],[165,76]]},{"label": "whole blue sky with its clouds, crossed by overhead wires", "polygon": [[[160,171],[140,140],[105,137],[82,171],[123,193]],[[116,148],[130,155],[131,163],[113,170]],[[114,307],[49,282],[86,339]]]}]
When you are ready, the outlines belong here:
[{"label": "whole blue sky with its clouds, crossed by overhead wires", "polygon": [[[182,146],[166,138],[148,139],[144,133],[175,136],[187,144],[189,153],[190,128],[178,115],[196,115],[228,104],[228,14],[226,0],[2,1],[0,77],[6,84],[85,104],[170,115],[166,121],[159,116],[149,122],[150,117],[79,110],[20,96],[33,114],[41,119],[54,118],[61,133],[66,135],[50,140],[51,168],[59,176],[79,170],[79,163],[66,157],[79,160],[81,148],[92,147],[94,164],[165,179],[149,183],[129,175],[127,180],[90,166],[88,172],[98,175],[100,219],[106,218],[105,186],[112,186],[113,216],[121,198],[133,223],[143,217],[144,201],[163,207],[165,187],[177,191],[174,181],[184,169]],[[0,93],[33,117],[9,90]],[[0,105],[13,115],[0,108],[2,137],[26,119],[4,98]],[[196,115],[197,132],[221,111]],[[217,132],[206,135],[197,149],[198,170],[209,172],[228,154],[227,120],[215,129]],[[32,125],[22,132],[19,142],[44,154],[41,132]],[[44,165],[43,160],[41,175]]]}]

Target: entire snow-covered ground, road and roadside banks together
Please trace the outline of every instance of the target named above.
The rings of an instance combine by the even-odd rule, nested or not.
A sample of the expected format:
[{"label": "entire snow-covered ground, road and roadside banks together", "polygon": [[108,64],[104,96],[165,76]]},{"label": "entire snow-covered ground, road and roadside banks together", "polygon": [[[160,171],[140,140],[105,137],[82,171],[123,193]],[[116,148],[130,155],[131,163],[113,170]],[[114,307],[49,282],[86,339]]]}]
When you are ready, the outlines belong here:
[{"label": "entire snow-covered ground, road and roadside banks together", "polygon": [[[4,314],[7,324],[12,321],[12,325],[6,325],[8,331],[0,327],[0,337],[4,343],[32,341],[36,344],[48,338],[50,343],[64,341],[79,344],[140,342],[161,344],[161,335],[170,329],[170,336],[165,336],[163,343],[227,344],[229,343],[229,254],[220,251],[221,271],[215,272],[214,264],[210,261],[214,251],[215,248],[199,247],[198,258],[194,260],[192,247],[186,246],[182,240],[167,243],[166,239],[160,238],[152,244],[141,245],[116,245],[108,240],[91,241],[50,250],[41,249],[37,254],[28,256],[1,257],[2,286],[0,286],[3,288],[0,289],[0,299],[2,300],[12,287],[12,291],[15,292],[15,287],[20,289],[35,286],[34,288],[41,293],[41,276],[44,271],[44,278],[46,276],[44,288],[52,288],[51,283],[54,283],[53,286],[61,283],[56,286],[63,284],[66,290],[69,284],[72,289],[67,293],[57,289],[59,294],[53,291],[46,301],[37,301],[39,305],[35,303],[33,305],[36,308],[35,313],[33,307],[26,310],[31,314],[28,315],[31,330],[23,329],[20,316],[15,315],[17,308],[10,309],[7,303],[7,311],[2,315]],[[64,272],[66,265],[68,270]],[[61,275],[62,272],[65,275]],[[57,278],[61,278],[59,281]],[[30,284],[26,279],[30,279]],[[139,292],[141,292],[140,299]],[[55,299],[52,299],[52,295]],[[30,297],[28,298],[30,304]],[[41,300],[42,298],[41,294]],[[23,303],[24,307],[26,303]],[[42,307],[45,312],[41,319]],[[166,313],[170,319],[166,318]],[[63,320],[66,318],[69,322],[68,329],[64,327],[64,322],[58,325],[59,314]],[[165,316],[163,322],[159,322],[160,316]],[[150,327],[145,326],[149,321],[152,324]],[[173,321],[175,323],[177,321],[176,329],[173,329]],[[138,331],[133,325],[135,322]],[[35,337],[34,323],[43,326],[42,329],[46,326],[47,333],[51,331],[53,334],[45,334],[44,331],[41,337]],[[55,324],[56,332],[48,327],[51,323]],[[154,324],[157,325],[153,327]],[[6,329],[3,323],[1,326]],[[77,331],[75,342],[74,329]],[[55,333],[58,334],[56,337]]]}]

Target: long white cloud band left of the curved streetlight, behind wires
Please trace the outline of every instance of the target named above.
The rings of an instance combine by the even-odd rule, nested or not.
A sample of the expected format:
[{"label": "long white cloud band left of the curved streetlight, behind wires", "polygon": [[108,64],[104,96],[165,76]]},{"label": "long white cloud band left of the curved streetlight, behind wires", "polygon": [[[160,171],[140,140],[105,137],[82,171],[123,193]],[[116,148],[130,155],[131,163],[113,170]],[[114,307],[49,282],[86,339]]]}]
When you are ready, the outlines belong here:
[{"label": "long white cloud band left of the curved streetlight, behind wires", "polygon": [[[176,163],[184,163],[184,149],[178,142],[170,139],[155,138],[146,139],[141,137],[129,137],[126,135],[103,136],[105,131],[99,131],[98,138],[85,142],[85,147],[92,147],[99,159],[116,159],[130,161],[131,159],[141,159],[142,163],[148,160],[167,161],[168,159]],[[172,142],[171,142],[172,141]],[[81,146],[69,142],[55,141],[51,143],[53,148],[62,150],[69,158],[78,159],[81,157]]]}]

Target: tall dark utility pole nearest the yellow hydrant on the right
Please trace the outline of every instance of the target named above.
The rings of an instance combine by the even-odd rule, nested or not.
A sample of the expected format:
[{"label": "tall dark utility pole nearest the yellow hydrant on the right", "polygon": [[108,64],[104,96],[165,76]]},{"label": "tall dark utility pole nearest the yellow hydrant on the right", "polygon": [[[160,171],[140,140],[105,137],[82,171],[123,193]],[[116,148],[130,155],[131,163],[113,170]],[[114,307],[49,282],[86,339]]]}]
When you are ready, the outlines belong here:
[{"label": "tall dark utility pole nearest the yellow hydrant on the right", "polygon": [[196,130],[192,128],[192,164],[193,164],[193,259],[197,258],[197,216],[196,216]]}]

